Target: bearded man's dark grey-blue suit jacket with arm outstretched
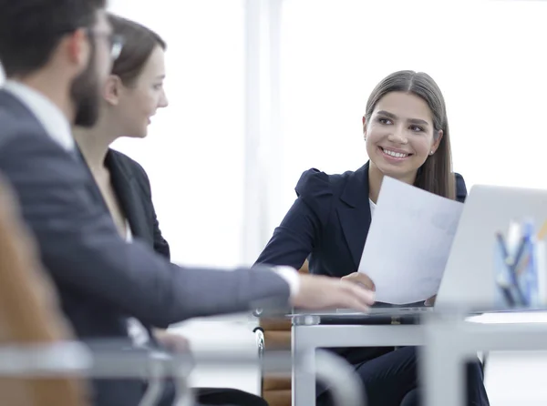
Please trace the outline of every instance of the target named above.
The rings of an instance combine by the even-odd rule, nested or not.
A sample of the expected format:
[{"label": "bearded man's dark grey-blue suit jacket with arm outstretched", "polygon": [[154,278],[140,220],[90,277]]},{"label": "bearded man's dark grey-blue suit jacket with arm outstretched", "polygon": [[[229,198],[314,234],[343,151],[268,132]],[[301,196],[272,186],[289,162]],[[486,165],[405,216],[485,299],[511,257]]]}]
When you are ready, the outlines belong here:
[{"label": "bearded man's dark grey-blue suit jacket with arm outstretched", "polygon": [[127,244],[97,204],[95,182],[77,153],[60,147],[5,90],[0,172],[15,188],[62,309],[81,339],[127,337],[126,315],[165,328],[192,317],[287,304],[288,284],[269,270],[181,269],[139,239]]}]

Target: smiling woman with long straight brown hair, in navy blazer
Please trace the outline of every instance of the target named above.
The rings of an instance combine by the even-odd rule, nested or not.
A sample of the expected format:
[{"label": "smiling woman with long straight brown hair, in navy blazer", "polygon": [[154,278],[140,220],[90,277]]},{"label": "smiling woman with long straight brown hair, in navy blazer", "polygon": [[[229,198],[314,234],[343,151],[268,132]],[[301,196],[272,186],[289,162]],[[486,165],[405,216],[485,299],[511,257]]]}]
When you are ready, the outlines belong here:
[{"label": "smiling woman with long straight brown hair, in navy blazer", "polygon": [[[374,281],[356,270],[384,176],[445,198],[466,198],[463,178],[452,172],[445,101],[427,74],[407,70],[385,77],[366,103],[363,133],[366,164],[340,175],[305,171],[296,185],[293,207],[275,229],[258,263],[299,269],[308,259],[314,274],[374,289]],[[415,348],[337,351],[355,365],[369,406],[420,404]],[[488,405],[478,361],[469,364],[467,376],[467,404]],[[317,404],[331,404],[325,388],[318,387],[317,394]]]}]

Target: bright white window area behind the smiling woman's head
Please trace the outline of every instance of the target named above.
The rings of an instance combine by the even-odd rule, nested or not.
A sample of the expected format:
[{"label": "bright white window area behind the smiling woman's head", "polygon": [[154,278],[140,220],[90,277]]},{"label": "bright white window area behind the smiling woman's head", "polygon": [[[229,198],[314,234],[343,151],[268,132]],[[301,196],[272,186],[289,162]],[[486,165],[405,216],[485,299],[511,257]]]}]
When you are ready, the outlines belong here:
[{"label": "bright white window area behind the smiling woman's head", "polygon": [[454,168],[468,187],[547,187],[545,15],[547,3],[528,1],[285,0],[285,192],[271,224],[294,200],[305,169],[365,163],[366,99],[399,69],[438,82]]}]

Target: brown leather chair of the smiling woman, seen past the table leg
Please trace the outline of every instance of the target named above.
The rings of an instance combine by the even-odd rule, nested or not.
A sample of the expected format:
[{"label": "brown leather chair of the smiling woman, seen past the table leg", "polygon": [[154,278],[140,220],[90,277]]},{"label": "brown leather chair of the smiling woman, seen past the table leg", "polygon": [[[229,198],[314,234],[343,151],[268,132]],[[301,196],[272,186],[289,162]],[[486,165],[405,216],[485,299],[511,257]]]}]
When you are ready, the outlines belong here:
[{"label": "brown leather chair of the smiling woman, seen past the table leg", "polygon": [[[307,260],[298,271],[309,272]],[[291,320],[261,319],[260,327],[264,350],[291,350]],[[291,406],[291,378],[264,375],[262,395],[270,406]]]}]

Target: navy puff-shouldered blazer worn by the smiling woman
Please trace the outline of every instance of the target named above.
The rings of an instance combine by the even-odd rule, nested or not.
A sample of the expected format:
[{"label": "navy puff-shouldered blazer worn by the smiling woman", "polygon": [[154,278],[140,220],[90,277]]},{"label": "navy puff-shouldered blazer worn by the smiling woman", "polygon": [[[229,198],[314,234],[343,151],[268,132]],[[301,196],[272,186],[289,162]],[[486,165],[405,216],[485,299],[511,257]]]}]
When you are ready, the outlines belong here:
[{"label": "navy puff-shouldered blazer worn by the smiling woman", "polygon": [[[342,278],[356,272],[371,222],[368,163],[355,172],[340,175],[309,169],[295,190],[293,206],[256,262],[298,269],[308,259],[314,274]],[[456,197],[463,202],[466,196],[465,182],[456,174]],[[355,363],[378,353],[342,349],[338,352]]]}]

